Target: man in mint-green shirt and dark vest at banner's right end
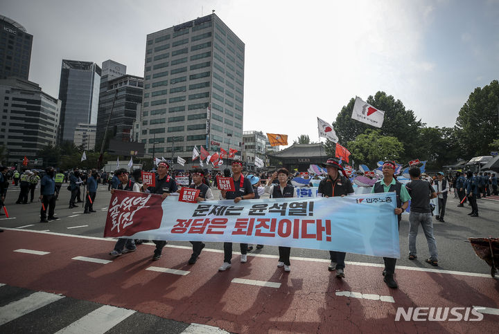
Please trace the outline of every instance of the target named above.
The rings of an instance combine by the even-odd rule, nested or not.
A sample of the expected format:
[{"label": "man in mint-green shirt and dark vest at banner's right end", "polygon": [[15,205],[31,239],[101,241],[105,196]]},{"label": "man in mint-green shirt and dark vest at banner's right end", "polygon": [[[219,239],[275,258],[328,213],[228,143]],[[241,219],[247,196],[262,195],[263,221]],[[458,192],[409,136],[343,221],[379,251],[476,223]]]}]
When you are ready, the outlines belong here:
[{"label": "man in mint-green shirt and dark vest at banner's right end", "polygon": [[[395,192],[396,193],[396,208],[394,210],[394,214],[397,215],[397,219],[399,220],[399,229],[400,229],[400,221],[402,219],[402,212],[407,210],[409,206],[409,201],[411,199],[407,189],[405,189],[404,185],[400,183],[396,178],[394,178],[396,165],[392,161],[385,161],[383,163],[383,167],[381,171],[383,172],[383,178],[378,182],[374,183],[374,187],[372,187],[371,193],[380,193],[380,192]],[[383,281],[387,284],[389,288],[398,288],[398,284],[393,278],[395,273],[395,264],[396,259],[392,257],[383,257],[383,261],[385,261],[385,270],[383,270],[383,276],[385,277]]]}]

